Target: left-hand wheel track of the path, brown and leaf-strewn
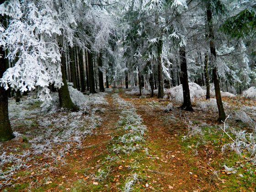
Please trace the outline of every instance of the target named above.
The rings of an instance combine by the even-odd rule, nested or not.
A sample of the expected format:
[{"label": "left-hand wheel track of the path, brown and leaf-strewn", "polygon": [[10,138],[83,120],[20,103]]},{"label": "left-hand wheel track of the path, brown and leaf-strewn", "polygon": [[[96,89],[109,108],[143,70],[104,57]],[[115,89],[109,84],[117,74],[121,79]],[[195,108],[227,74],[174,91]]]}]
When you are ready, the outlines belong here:
[{"label": "left-hand wheel track of the path, brown and leaf-strewn", "polygon": [[[95,191],[88,188],[94,180],[93,175],[99,169],[97,164],[105,160],[107,144],[116,134],[116,124],[120,110],[113,102],[114,90],[107,94],[108,105],[101,106],[96,112],[102,118],[102,124],[84,140],[82,149],[74,150],[66,159],[66,165],[51,174],[55,187],[45,187],[45,191]],[[97,106],[96,106],[97,107]]]}]

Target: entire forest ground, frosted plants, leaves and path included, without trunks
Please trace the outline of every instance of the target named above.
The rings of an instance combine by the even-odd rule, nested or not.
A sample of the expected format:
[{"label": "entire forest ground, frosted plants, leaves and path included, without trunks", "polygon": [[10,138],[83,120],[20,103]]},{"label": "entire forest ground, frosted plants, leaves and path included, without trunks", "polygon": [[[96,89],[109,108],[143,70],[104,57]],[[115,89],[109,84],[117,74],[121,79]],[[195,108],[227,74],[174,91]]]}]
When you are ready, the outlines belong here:
[{"label": "entire forest ground, frosted plants, leaves and path included, without trunks", "polygon": [[122,89],[97,99],[70,92],[80,112],[54,97],[10,101],[16,139],[0,146],[2,190],[255,191],[256,101],[224,97],[229,118],[218,125],[213,98],[184,112]]}]

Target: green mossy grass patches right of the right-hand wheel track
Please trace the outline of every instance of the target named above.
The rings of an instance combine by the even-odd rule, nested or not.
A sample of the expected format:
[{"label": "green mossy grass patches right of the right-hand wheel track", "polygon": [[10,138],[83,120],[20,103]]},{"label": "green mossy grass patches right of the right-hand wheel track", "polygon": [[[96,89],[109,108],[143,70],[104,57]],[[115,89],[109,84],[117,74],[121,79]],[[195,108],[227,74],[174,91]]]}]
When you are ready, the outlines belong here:
[{"label": "green mossy grass patches right of the right-hand wheel track", "polygon": [[[179,143],[186,154],[193,153],[193,150],[203,150],[205,145],[212,145],[217,153],[221,153],[221,147],[230,141],[227,135],[223,134],[217,126],[203,127],[205,144],[200,143],[202,137],[193,136],[187,139],[179,137]],[[231,133],[230,133],[231,134]],[[232,134],[231,134],[232,135]],[[233,136],[233,135],[232,135]],[[200,143],[197,148],[196,144]],[[247,155],[242,154],[246,157]],[[256,189],[256,167],[251,162],[246,161],[243,157],[237,155],[235,152],[227,152],[222,155],[223,158],[215,158],[210,164],[215,171],[219,173],[219,179],[216,177],[214,182],[219,184],[218,188],[221,191],[234,192],[234,191],[254,191]],[[240,164],[237,164],[240,162]],[[224,165],[234,167],[236,173],[227,174],[224,170]],[[191,166],[192,172],[197,172],[198,168]],[[242,174],[243,177],[240,176]],[[212,182],[212,180],[210,180]]]}]

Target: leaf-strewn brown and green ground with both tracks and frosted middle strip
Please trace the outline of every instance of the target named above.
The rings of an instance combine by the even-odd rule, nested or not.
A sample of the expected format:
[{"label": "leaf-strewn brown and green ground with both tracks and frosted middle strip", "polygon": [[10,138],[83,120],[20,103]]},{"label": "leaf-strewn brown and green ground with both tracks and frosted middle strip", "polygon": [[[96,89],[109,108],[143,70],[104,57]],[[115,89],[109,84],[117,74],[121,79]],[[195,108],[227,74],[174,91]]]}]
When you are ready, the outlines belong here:
[{"label": "leaf-strewn brown and green ground with both tracks and frosted middle strip", "polygon": [[[230,139],[221,130],[223,125],[216,123],[218,113],[184,112],[176,108],[176,103],[172,111],[166,112],[170,101],[131,96],[122,89],[113,89],[105,99],[108,104],[97,106],[104,109],[96,111],[101,123],[86,135],[79,147],[65,152],[64,163],[42,154],[28,155],[27,166],[13,171],[9,184],[0,179],[0,190],[256,190],[256,167],[248,155],[221,151]],[[240,97],[224,97],[224,101],[230,112],[256,106],[256,101]],[[227,123],[230,127],[249,129],[234,119]],[[23,129],[25,127],[20,126],[18,131],[25,135]],[[30,150],[29,139],[11,140],[2,147],[9,156],[21,154]],[[15,152],[11,150],[14,148]],[[60,148],[56,146],[57,150]],[[12,165],[14,161],[3,164],[0,169],[7,170]]]}]

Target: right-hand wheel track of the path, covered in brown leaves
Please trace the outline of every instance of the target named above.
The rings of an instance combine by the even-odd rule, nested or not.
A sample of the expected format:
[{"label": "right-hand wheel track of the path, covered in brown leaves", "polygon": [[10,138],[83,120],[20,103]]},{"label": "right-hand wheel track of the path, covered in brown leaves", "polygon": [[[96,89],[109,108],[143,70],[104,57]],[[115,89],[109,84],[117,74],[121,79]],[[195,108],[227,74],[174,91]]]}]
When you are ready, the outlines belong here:
[{"label": "right-hand wheel track of the path, covered in brown leaves", "polygon": [[187,154],[179,142],[185,133],[181,112],[167,113],[160,107],[152,107],[152,103],[160,102],[157,98],[138,98],[123,92],[121,96],[133,103],[147,126],[149,154],[157,157],[147,161],[147,166],[155,167],[147,170],[153,183],[163,191],[213,191],[215,186],[207,179],[206,162]]}]

